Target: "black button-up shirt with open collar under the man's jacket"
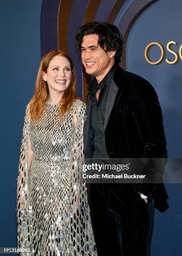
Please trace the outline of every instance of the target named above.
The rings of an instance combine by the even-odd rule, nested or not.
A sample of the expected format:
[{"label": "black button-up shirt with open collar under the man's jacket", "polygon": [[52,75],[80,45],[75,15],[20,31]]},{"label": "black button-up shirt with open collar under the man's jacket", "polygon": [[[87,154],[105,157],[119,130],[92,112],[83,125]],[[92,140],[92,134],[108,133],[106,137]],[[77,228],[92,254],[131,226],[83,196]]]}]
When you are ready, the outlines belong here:
[{"label": "black button-up shirt with open collar under the man's jacket", "polygon": [[[102,81],[98,84],[94,78],[89,88],[91,100],[90,128],[92,131],[92,157],[93,158],[109,158],[105,147],[104,124],[107,98],[109,95],[110,85],[115,74],[117,64],[114,64]],[[96,92],[100,89],[98,101]]]}]

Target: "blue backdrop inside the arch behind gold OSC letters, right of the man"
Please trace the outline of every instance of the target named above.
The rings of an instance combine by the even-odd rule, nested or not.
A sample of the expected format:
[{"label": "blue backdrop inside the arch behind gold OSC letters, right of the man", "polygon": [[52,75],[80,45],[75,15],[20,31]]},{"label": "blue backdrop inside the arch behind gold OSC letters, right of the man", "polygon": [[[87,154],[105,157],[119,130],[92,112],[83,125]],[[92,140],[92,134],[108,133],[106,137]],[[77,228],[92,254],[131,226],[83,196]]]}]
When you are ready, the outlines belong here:
[{"label": "blue backdrop inside the arch behind gold OSC letters, right of the man", "polygon": [[[182,60],[168,64],[165,58],[174,60],[166,45],[176,41],[172,49],[179,55],[182,44],[182,1],[159,0],[147,8],[136,20],[127,43],[127,70],[145,77],[157,91],[162,106],[168,157],[182,158]],[[165,48],[165,58],[158,65],[145,60],[145,47],[158,42]],[[160,58],[157,46],[150,49],[150,58]],[[155,210],[151,256],[182,255],[182,185],[166,184],[170,199],[169,209],[161,213]]]}]

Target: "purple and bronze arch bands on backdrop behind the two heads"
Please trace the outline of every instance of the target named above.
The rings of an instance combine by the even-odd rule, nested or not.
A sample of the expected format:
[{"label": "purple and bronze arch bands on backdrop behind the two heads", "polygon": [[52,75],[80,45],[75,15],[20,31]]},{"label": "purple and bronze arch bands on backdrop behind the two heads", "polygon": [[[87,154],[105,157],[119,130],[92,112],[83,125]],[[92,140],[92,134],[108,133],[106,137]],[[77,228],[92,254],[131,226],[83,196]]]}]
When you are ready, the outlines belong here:
[{"label": "purple and bronze arch bands on backdrop behind the two heads", "polygon": [[[125,49],[130,30],[140,14],[156,1],[157,0],[135,0],[120,19],[118,28],[125,41],[122,56],[122,67],[124,69],[126,67]],[[76,31],[73,23],[76,23],[78,25],[77,27],[94,20],[114,23],[118,12],[125,2],[126,0],[110,0],[109,3],[104,3],[104,0],[85,0],[83,4],[80,0],[54,0],[54,2],[52,0],[42,0],[40,21],[41,56],[52,49],[62,49],[70,54],[75,63],[78,81],[82,80],[82,84],[78,84],[77,94],[80,95],[80,97],[83,96],[84,101],[86,101],[87,85],[91,81],[91,76],[86,74],[85,69],[82,69],[80,57],[78,56],[73,38]],[[84,12],[82,15],[80,15],[80,8]],[[103,12],[103,8],[105,12]],[[78,13],[80,18],[79,22],[77,19],[74,19],[75,15],[76,18],[78,18]],[[71,36],[72,41],[69,40],[69,36]],[[74,50],[72,51],[72,49]]]}]

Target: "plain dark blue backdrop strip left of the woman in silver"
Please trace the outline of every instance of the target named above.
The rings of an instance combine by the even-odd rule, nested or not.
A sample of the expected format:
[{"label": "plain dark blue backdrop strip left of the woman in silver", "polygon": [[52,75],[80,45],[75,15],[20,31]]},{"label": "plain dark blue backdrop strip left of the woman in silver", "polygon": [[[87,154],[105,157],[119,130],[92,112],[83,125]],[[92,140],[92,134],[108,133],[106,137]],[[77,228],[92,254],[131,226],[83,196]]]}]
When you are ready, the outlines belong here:
[{"label": "plain dark blue backdrop strip left of the woman in silver", "polygon": [[25,108],[40,63],[42,0],[0,2],[0,247],[15,247],[17,163]]}]

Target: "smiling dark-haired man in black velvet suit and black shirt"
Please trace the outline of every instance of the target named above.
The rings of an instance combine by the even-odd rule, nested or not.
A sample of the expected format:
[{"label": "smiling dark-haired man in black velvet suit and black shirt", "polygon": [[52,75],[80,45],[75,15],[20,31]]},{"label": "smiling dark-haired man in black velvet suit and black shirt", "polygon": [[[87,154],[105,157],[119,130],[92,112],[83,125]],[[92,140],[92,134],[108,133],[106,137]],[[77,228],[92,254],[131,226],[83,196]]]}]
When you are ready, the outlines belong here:
[{"label": "smiling dark-haired man in black velvet suit and black shirt", "polygon": [[[162,111],[152,85],[118,64],[123,39],[109,23],[78,28],[76,42],[87,74],[85,158],[163,158]],[[99,256],[148,256],[154,200],[167,199],[163,184],[88,184]]]}]

